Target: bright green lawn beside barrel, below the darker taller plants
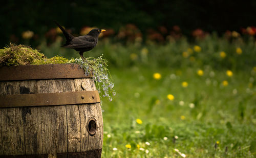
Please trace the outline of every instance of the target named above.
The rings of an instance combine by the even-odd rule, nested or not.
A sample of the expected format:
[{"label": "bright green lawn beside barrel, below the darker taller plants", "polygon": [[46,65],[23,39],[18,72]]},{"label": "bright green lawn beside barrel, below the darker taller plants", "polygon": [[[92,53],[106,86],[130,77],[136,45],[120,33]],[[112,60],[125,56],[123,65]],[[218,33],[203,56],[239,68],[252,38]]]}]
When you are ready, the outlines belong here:
[{"label": "bright green lawn beside barrel, below the darker taller plants", "polygon": [[[102,157],[181,157],[175,148],[186,157],[254,157],[256,88],[248,85],[256,72],[233,72],[228,77],[225,71],[207,66],[203,71],[198,76],[197,69],[190,68],[112,69],[117,95],[112,102],[103,98]],[[160,80],[153,78],[156,72]],[[223,80],[229,84],[223,86]],[[183,81],[187,87],[182,87]],[[168,94],[175,99],[168,100]]]}]

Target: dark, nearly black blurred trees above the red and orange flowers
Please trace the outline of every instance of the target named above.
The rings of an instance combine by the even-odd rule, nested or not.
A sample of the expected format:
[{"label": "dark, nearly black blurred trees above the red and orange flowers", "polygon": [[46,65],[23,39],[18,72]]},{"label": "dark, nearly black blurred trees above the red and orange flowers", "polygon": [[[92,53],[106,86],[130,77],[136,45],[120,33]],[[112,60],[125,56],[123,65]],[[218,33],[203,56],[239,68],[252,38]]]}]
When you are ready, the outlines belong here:
[{"label": "dark, nearly black blurred trees above the red and orange flowers", "polygon": [[[1,2],[0,45],[12,41],[22,43],[22,32],[31,30],[33,38],[44,37],[57,20],[73,33],[81,27],[97,26],[116,31],[126,24],[135,24],[142,33],[148,28],[180,26],[183,34],[201,28],[205,31],[239,30],[256,26],[256,1],[3,1]],[[40,41],[40,40],[34,40]],[[36,43],[32,43],[36,44]]]}]

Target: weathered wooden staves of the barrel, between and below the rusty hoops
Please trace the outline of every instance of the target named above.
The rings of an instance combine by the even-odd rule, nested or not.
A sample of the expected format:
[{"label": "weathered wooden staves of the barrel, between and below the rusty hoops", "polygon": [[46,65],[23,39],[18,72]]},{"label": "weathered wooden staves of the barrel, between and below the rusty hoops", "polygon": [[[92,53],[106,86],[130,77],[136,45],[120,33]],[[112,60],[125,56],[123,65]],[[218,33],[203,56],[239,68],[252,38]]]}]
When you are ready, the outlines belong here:
[{"label": "weathered wooden staves of the barrel, between and below the rusty hoops", "polygon": [[[86,83],[85,89],[82,82]],[[96,88],[90,78],[0,82],[0,95],[92,90]],[[97,125],[94,136],[87,131],[91,118]],[[102,142],[100,103],[0,108],[0,157],[100,157]]]}]

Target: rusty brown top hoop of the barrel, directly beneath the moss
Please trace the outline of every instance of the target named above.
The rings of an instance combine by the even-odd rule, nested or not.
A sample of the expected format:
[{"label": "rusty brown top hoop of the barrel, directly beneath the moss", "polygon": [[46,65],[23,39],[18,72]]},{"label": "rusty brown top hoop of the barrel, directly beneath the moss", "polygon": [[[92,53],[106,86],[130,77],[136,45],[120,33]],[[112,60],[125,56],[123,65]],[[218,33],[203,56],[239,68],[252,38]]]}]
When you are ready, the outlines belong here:
[{"label": "rusty brown top hoop of the barrel, directly beneath the moss", "polygon": [[76,63],[0,66],[0,81],[92,78]]}]

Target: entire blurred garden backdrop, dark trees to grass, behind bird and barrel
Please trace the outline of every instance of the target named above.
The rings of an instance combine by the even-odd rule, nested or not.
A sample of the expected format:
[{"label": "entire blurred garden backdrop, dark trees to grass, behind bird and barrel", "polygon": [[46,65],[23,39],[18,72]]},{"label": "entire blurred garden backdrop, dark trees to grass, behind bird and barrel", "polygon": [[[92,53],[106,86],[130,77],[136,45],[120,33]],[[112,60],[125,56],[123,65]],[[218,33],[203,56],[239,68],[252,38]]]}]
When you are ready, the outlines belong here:
[{"label": "entire blurred garden backdrop, dark trees to grass, behind bird and barrel", "polygon": [[102,157],[256,155],[256,1],[1,2],[1,48],[78,58],[74,36],[105,29],[84,57],[108,60]]}]

